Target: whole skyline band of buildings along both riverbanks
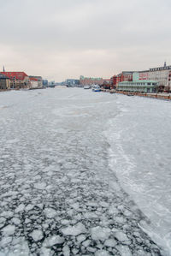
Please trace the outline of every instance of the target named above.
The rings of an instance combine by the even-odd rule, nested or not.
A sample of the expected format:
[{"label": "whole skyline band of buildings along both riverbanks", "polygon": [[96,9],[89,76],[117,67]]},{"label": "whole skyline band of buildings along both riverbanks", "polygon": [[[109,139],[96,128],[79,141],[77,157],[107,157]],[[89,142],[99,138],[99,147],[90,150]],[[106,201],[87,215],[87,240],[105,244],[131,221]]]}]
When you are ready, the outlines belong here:
[{"label": "whole skyline band of buildings along both riverbanks", "polygon": [[80,80],[67,79],[62,83],[54,80],[43,80],[41,76],[27,75],[25,72],[0,72],[0,90],[10,89],[38,89],[55,86],[93,86],[98,85],[104,89],[116,89],[122,92],[171,92],[171,66],[166,63],[162,67],[149,68],[141,71],[122,71],[110,79],[102,77],[85,77],[80,75]]}]

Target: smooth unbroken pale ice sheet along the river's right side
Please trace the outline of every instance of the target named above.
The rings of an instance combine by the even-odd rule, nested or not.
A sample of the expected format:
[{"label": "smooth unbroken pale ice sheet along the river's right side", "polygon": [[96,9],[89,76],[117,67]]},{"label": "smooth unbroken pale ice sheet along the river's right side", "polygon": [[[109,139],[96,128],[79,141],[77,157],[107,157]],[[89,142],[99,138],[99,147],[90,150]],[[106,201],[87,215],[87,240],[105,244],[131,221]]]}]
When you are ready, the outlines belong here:
[{"label": "smooth unbroken pale ice sheet along the river's right side", "polygon": [[105,131],[109,166],[149,218],[140,227],[171,255],[171,102],[119,95],[117,105]]}]

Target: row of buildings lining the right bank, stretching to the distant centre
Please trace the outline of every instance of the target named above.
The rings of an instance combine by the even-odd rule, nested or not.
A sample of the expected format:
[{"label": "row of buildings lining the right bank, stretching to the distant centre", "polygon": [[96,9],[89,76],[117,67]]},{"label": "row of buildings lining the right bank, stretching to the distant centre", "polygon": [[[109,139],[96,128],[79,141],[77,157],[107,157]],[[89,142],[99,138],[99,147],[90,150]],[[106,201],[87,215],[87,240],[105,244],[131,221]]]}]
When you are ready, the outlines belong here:
[{"label": "row of buildings lining the right bank, stretching to the distant centre", "polygon": [[122,71],[110,79],[102,77],[85,77],[80,80],[67,79],[65,86],[98,85],[104,89],[116,89],[123,92],[171,92],[171,66],[164,63],[163,67],[141,71]]}]

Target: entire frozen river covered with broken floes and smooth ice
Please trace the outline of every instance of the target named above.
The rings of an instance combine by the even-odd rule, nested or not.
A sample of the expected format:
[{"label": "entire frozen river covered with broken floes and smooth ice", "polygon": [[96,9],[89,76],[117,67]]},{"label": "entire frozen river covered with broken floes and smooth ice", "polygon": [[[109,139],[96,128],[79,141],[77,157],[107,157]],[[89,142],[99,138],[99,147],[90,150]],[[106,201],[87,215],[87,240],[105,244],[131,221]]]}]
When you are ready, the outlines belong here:
[{"label": "entire frozen river covered with broken floes and smooth ice", "polygon": [[171,255],[171,103],[0,93],[0,256]]}]

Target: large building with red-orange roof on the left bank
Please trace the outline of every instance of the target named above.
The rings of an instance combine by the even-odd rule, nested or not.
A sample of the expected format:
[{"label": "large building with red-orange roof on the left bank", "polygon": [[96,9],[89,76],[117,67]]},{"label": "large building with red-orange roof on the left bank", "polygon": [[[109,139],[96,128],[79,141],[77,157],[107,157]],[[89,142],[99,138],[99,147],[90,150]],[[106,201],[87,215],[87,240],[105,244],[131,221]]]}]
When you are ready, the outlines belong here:
[{"label": "large building with red-orange roof on the left bank", "polygon": [[30,87],[29,76],[25,72],[1,72],[10,80],[11,89]]}]

